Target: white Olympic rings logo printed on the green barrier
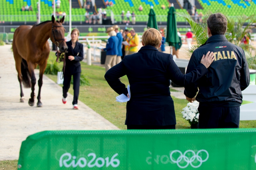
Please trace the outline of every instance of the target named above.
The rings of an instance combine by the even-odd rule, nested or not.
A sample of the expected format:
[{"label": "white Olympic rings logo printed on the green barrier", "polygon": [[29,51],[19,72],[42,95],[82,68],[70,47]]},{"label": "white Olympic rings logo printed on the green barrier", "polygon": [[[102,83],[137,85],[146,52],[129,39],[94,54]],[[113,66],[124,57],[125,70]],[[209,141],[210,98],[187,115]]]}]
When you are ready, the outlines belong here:
[{"label": "white Olympic rings logo printed on the green barrier", "polygon": [[[174,159],[172,158],[172,154],[175,153],[175,152],[180,153],[180,156],[177,158],[177,160],[174,160]],[[186,156],[186,154],[187,154],[188,152],[191,152],[191,153],[193,154],[193,156],[192,156],[190,159]],[[206,155],[207,155],[204,160],[202,159],[201,156],[199,156],[199,153],[201,153],[201,152],[205,152]],[[186,152],[184,152],[184,154],[182,154],[182,152],[180,152],[179,150],[174,150],[174,151],[172,151],[171,154],[170,154],[170,159],[171,159],[171,161],[174,162],[174,163],[176,163],[180,168],[186,168],[186,167],[188,167],[189,164],[190,164],[193,168],[198,168],[198,167],[200,167],[200,166],[202,165],[202,163],[205,162],[208,158],[209,158],[209,153],[208,153],[206,150],[204,150],[204,149],[199,150],[197,153],[195,153],[195,152],[192,151],[192,150],[187,150]],[[180,162],[182,161],[182,159],[184,159],[184,161],[187,162],[187,164],[186,164],[185,166],[181,166],[181,165],[180,165]],[[199,165],[197,165],[197,166],[195,166],[195,165],[192,164],[192,162],[194,162],[196,159],[197,159],[197,161],[200,162]]]}]

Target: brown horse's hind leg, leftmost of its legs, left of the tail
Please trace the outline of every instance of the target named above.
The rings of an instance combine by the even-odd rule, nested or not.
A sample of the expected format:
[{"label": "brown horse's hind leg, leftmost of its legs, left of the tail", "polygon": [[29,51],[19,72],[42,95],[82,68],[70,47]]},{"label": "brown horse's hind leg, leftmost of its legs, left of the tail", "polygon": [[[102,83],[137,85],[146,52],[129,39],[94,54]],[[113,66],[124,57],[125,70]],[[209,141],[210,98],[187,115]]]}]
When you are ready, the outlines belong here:
[{"label": "brown horse's hind leg, leftmost of its legs, left of the tail", "polygon": [[15,60],[16,70],[18,72],[18,80],[20,82],[20,102],[24,103],[24,94],[23,94],[22,85],[21,85],[21,83],[22,83],[22,74],[21,74],[22,57],[18,53],[15,44],[12,45],[12,51],[13,51],[13,56],[14,56],[14,60]]}]

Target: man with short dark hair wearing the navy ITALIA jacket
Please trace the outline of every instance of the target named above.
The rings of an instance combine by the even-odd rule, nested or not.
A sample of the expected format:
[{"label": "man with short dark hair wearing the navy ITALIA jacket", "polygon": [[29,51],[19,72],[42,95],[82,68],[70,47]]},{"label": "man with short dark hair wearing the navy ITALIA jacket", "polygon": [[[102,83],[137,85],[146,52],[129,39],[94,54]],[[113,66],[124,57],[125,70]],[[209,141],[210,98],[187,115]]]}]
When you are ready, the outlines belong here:
[{"label": "man with short dark hair wearing the navy ITALIA jacket", "polygon": [[238,128],[242,91],[250,83],[244,50],[226,39],[227,18],[223,14],[212,14],[207,26],[209,39],[192,54],[187,73],[200,64],[201,54],[209,50],[214,52],[215,60],[197,85],[185,87],[184,94],[193,102],[199,88],[198,128]]}]

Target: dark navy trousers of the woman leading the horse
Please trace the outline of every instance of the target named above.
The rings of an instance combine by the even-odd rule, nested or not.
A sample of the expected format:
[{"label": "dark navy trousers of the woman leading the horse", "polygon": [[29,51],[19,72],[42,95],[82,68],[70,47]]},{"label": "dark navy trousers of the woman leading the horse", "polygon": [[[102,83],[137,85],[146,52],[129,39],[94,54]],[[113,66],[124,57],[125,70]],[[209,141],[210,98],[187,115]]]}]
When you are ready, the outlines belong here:
[{"label": "dark navy trousers of the woman leading the horse", "polygon": [[[80,74],[76,73],[73,74],[73,89],[74,89],[74,98],[72,104],[77,104],[78,95],[79,95],[79,86],[80,86]],[[68,96],[68,89],[70,87],[71,82],[71,76],[72,74],[64,74],[64,80],[63,80],[63,97],[66,98]]]}]

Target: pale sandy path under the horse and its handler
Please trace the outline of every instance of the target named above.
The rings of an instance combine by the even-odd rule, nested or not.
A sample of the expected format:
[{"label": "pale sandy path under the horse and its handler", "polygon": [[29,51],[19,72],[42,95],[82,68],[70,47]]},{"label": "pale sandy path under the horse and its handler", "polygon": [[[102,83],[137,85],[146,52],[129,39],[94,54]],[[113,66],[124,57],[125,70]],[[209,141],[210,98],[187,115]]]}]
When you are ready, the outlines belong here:
[{"label": "pale sandy path under the horse and its handler", "polygon": [[[20,145],[28,135],[46,130],[117,130],[118,128],[81,101],[72,109],[73,96],[63,104],[62,88],[44,75],[42,108],[28,105],[31,89],[24,89],[20,103],[20,85],[11,45],[0,46],[0,160],[18,159]],[[36,70],[35,93],[38,94]]]}]

